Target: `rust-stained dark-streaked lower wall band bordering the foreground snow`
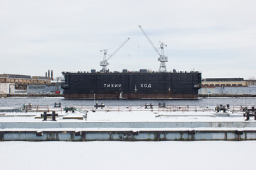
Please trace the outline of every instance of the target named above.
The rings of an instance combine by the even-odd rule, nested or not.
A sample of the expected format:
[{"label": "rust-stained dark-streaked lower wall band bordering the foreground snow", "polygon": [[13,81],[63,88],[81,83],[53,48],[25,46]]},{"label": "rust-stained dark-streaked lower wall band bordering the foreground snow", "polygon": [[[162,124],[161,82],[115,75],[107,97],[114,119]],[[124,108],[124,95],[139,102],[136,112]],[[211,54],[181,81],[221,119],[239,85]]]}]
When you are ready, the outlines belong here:
[{"label": "rust-stained dark-streaked lower wall band bordering the foreground snow", "polygon": [[256,140],[256,130],[18,130],[0,131],[0,141],[196,141]]}]

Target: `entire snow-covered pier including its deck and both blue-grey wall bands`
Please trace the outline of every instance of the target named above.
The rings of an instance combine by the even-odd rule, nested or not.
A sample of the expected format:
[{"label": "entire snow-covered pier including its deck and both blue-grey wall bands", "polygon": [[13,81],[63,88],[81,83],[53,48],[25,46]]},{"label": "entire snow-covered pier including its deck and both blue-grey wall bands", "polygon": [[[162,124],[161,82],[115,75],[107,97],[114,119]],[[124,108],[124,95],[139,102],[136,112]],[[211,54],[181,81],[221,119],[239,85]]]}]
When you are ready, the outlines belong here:
[{"label": "entire snow-covered pier including its deck and both blue-grey wall bands", "polygon": [[[30,106],[21,113],[0,113],[0,140],[256,140],[256,120],[245,121],[243,109]],[[44,112],[47,118],[43,118]]]}]

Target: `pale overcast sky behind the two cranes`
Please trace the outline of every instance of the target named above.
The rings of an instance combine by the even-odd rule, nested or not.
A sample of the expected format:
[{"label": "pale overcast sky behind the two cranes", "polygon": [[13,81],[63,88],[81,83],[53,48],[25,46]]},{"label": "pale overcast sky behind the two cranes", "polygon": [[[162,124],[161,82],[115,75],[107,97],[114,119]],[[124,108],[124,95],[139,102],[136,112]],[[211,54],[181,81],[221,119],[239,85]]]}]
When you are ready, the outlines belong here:
[{"label": "pale overcast sky behind the two cranes", "polygon": [[0,0],[0,74],[44,76],[100,70],[159,69],[156,47],[166,43],[168,71],[207,77],[256,77],[255,0]]}]

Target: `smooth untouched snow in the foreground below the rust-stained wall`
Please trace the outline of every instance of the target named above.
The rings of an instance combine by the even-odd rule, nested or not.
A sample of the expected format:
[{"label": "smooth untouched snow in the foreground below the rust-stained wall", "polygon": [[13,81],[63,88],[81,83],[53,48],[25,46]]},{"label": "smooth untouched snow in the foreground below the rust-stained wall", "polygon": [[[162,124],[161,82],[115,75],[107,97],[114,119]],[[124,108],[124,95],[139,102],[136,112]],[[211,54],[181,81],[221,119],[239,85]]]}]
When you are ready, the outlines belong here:
[{"label": "smooth untouched snow in the foreground below the rust-stained wall", "polygon": [[247,170],[255,169],[255,145],[256,141],[0,142],[0,167]]}]

